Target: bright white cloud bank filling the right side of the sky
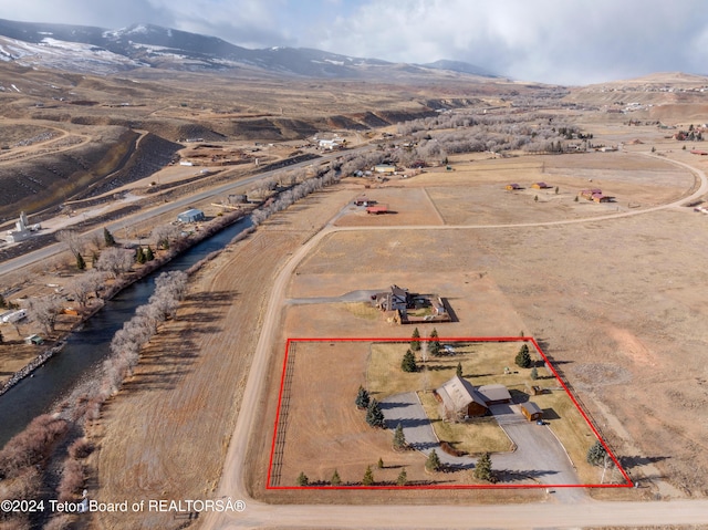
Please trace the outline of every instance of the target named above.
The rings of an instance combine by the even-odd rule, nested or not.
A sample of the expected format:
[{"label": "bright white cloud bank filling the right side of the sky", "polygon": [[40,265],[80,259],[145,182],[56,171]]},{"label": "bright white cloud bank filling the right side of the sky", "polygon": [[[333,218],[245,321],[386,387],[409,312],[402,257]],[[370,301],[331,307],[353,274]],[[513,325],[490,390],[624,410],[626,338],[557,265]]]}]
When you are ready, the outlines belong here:
[{"label": "bright white cloud bank filling the right side of the sky", "polygon": [[708,51],[687,45],[702,31],[696,14],[704,8],[699,0],[372,0],[334,21],[317,44],[402,62],[457,59],[517,79],[579,83],[705,64]]}]

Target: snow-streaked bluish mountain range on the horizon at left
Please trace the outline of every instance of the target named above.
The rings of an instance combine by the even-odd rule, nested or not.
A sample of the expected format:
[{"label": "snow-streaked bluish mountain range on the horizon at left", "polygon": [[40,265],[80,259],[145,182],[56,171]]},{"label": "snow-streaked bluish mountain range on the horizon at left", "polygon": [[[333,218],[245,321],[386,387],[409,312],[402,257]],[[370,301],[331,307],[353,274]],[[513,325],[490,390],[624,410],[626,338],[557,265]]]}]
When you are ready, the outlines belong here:
[{"label": "snow-streaked bluish mountain range on the horizon at left", "polygon": [[27,66],[82,73],[111,73],[136,67],[167,70],[258,70],[305,77],[361,77],[386,67],[425,74],[447,70],[494,76],[467,63],[438,61],[394,65],[376,59],[339,55],[304,48],[249,50],[216,37],[152,24],[118,30],[0,19],[0,60]]}]

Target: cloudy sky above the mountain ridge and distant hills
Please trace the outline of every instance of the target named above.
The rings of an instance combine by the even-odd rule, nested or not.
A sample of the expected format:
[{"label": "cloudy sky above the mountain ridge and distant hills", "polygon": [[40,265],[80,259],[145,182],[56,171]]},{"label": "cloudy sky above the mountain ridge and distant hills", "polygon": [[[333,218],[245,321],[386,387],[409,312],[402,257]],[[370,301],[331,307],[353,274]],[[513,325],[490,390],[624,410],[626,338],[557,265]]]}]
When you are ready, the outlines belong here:
[{"label": "cloudy sky above the mountain ridge and distant hills", "polygon": [[708,74],[704,0],[0,0],[0,17],[108,29],[154,23],[246,48],[394,62],[452,59],[548,83]]}]

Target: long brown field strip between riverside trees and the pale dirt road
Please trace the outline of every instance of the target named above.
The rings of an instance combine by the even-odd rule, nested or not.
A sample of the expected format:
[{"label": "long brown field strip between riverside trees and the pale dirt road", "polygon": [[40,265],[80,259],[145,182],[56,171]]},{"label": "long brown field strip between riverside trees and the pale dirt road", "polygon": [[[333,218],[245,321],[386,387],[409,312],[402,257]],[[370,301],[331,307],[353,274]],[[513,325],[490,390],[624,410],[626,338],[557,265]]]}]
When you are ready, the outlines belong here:
[{"label": "long brown field strip between riverside trees and the pale dirt road", "polygon": [[[293,209],[296,215],[278,216],[199,272],[177,319],[150,341],[134,376],[93,428],[101,447],[95,498],[210,497],[233,430],[269,279],[287,251],[319,229],[320,216],[332,217],[350,194],[340,189],[304,200]],[[165,513],[104,513],[95,521],[106,529],[178,528],[181,522]]]}]

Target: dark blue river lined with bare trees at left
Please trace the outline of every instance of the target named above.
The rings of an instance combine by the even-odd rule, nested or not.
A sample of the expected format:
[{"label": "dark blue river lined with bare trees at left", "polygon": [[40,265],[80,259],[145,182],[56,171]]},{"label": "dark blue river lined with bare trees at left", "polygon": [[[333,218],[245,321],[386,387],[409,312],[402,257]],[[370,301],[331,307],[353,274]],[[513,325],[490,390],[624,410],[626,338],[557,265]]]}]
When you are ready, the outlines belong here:
[{"label": "dark blue river lined with bare trees at left", "polygon": [[155,278],[160,272],[188,269],[207,254],[223,248],[250,226],[250,218],[239,220],[107,301],[82,329],[69,335],[61,353],[0,396],[0,447],[34,417],[50,411],[84,377],[96,377],[101,362],[108,354],[114,333],[133,318],[136,308],[147,302],[155,288]]}]

